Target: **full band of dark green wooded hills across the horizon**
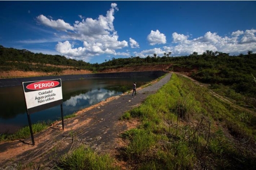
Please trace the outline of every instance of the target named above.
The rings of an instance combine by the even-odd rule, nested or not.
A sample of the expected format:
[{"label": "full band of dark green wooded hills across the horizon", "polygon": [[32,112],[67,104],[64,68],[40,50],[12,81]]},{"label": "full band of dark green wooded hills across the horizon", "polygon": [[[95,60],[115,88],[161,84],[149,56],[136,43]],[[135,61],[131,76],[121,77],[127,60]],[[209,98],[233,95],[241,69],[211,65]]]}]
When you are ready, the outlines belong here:
[{"label": "full band of dark green wooded hills across the horizon", "polygon": [[253,54],[252,51],[238,56],[209,50],[201,55],[194,52],[189,56],[172,57],[171,54],[170,52],[164,53],[162,57],[153,54],[145,58],[139,56],[112,58],[100,64],[91,64],[82,60],[68,59],[65,56],[32,53],[28,50],[17,50],[0,45],[0,71],[55,71],[61,73],[65,69],[84,69],[97,72],[109,68],[135,65],[172,64],[173,66],[169,70],[174,70],[175,67],[196,70],[191,77],[200,82],[212,86],[228,86],[238,93],[255,98],[256,54]]}]

